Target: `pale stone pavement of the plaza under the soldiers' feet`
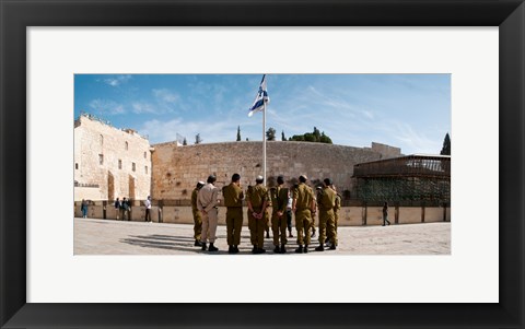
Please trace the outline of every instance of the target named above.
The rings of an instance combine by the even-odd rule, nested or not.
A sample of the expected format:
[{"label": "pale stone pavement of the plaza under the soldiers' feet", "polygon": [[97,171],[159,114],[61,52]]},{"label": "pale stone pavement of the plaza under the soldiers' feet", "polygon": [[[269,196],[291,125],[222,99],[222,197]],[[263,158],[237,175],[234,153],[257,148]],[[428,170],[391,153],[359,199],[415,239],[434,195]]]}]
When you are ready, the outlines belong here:
[{"label": "pale stone pavement of the plaza under the soldiers' feet", "polygon": [[[310,252],[294,254],[298,247],[295,228],[289,238],[288,252],[282,256],[308,255],[450,255],[451,223],[404,224],[390,226],[340,226],[337,250],[314,251],[317,236],[312,238]],[[74,219],[74,255],[229,255],[226,227],[217,230],[217,252],[194,247],[194,226],[121,222],[112,220]],[[264,255],[273,255],[271,238],[265,239]],[[249,231],[243,226],[240,254],[252,255]],[[231,255],[234,257],[235,255]]]}]

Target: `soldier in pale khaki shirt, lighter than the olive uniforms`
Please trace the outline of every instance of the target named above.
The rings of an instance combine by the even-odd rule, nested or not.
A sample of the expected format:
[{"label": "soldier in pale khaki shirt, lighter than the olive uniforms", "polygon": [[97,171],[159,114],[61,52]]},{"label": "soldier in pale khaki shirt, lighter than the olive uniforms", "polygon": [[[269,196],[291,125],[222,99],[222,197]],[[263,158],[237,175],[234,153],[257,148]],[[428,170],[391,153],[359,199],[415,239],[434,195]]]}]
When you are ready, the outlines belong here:
[{"label": "soldier in pale khaki shirt, lighter than the olive uniforms", "polygon": [[202,250],[207,250],[207,243],[210,242],[208,251],[219,250],[213,244],[215,243],[218,208],[217,195],[219,189],[214,186],[217,177],[210,175],[200,190],[197,198],[197,208],[202,214],[202,233],[200,242],[202,243]]}]

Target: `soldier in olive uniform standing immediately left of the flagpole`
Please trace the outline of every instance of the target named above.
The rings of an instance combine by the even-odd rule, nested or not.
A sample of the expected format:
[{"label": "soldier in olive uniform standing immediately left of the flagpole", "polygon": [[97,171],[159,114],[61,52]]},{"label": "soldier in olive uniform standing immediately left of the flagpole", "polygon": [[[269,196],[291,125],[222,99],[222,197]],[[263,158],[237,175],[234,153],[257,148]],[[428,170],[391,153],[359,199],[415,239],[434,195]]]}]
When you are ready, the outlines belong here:
[{"label": "soldier in olive uniform standing immediately left of the flagpole", "polygon": [[248,189],[246,199],[248,203],[248,226],[252,244],[254,245],[253,254],[262,254],[266,250],[262,248],[265,245],[265,231],[268,205],[268,191],[262,185],[262,176],[257,176],[256,186]]}]

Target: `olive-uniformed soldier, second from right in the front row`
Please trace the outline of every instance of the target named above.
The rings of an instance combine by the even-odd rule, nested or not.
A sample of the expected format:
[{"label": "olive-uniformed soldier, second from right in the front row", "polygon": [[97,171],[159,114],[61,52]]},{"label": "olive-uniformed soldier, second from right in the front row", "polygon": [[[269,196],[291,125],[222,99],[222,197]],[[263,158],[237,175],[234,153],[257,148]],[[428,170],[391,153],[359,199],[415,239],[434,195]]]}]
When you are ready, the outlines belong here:
[{"label": "olive-uniformed soldier, second from right in the front row", "polygon": [[[314,191],[306,185],[308,178],[305,175],[299,177],[299,185],[293,191],[292,210],[295,213],[295,228],[298,231],[299,248],[295,252],[308,252],[310,227],[312,225],[312,213],[315,213]],[[304,244],[304,248],[303,248]]]}]

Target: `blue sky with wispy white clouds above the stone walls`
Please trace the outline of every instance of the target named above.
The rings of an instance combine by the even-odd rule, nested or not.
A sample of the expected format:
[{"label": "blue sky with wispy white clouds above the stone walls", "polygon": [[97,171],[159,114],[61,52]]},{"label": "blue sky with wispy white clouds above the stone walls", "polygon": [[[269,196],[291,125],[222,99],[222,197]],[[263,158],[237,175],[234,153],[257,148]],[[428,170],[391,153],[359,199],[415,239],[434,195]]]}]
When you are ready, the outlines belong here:
[{"label": "blue sky with wispy white clouds above the stone walls", "polygon": [[[132,128],[152,144],[262,140],[262,114],[248,117],[262,74],[75,74],[81,110]],[[404,154],[439,154],[451,140],[450,74],[268,74],[266,129],[287,139],[317,127],[335,144],[380,142]]]}]

